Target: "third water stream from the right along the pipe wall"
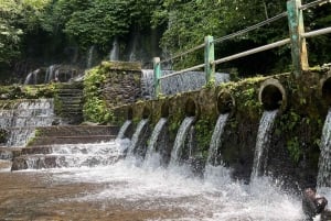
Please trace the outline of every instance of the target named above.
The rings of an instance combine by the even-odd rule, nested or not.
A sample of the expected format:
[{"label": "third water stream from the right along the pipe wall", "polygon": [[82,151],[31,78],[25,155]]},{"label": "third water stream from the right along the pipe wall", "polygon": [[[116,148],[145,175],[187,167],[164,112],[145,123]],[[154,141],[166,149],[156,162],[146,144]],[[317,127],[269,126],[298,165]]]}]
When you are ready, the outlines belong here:
[{"label": "third water stream from the right along the pipe wall", "polygon": [[207,165],[216,165],[217,164],[217,150],[220,148],[221,145],[221,137],[222,137],[222,133],[224,131],[224,126],[226,124],[228,118],[228,113],[224,113],[224,114],[220,114],[213,135],[212,135],[212,140],[211,140],[211,144],[210,144],[210,150],[209,150],[209,156],[207,156],[207,161],[206,164]]}]

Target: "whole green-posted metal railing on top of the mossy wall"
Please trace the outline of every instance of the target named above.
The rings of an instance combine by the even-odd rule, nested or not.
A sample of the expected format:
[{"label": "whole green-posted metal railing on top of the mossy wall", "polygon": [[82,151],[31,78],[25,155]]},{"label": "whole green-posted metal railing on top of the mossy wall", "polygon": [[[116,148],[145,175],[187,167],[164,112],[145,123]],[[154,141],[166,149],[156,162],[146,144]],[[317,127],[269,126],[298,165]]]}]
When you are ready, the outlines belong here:
[{"label": "whole green-posted metal railing on top of the mossy wall", "polygon": [[[328,34],[331,33],[331,27],[324,27],[311,32],[305,32],[303,29],[303,11],[310,8],[316,8],[320,7],[324,3],[330,3],[331,0],[317,0],[307,4],[301,5],[301,0],[288,0],[287,1],[287,12],[282,12],[274,18],[267,19],[263,22],[259,22],[255,25],[248,26],[244,30],[241,30],[238,32],[228,34],[226,36],[222,36],[218,38],[213,38],[213,36],[206,36],[205,41],[203,44],[200,44],[193,48],[190,48],[185,52],[179,53],[170,58],[160,60],[159,57],[156,57],[153,59],[153,71],[154,71],[154,91],[156,91],[156,97],[159,97],[161,92],[161,85],[160,81],[162,79],[173,77],[175,75],[180,75],[186,71],[191,70],[196,70],[201,69],[204,67],[204,74],[205,74],[205,79],[207,85],[213,85],[215,81],[215,65],[226,63],[233,59],[237,59],[241,57],[245,57],[252,54],[256,54],[259,52],[268,51],[271,48],[276,48],[282,45],[291,44],[291,58],[292,58],[292,65],[293,65],[293,75],[298,78],[300,77],[302,70],[307,70],[309,65],[308,65],[308,56],[307,56],[307,48],[306,48],[306,38],[308,37],[313,37],[322,34]],[[246,34],[253,30],[259,29],[266,24],[270,24],[271,22],[278,21],[279,19],[282,18],[288,18],[288,25],[289,25],[289,33],[290,37],[280,40],[278,42],[263,45],[253,49],[248,49],[238,54],[234,54],[231,56],[222,57],[218,59],[215,59],[214,55],[214,45],[215,43],[221,43],[234,37],[237,37],[239,35]],[[178,71],[174,71],[169,75],[161,76],[161,64],[168,63],[170,60],[173,60],[175,58],[185,56],[190,53],[193,53],[197,49],[204,48],[204,63],[200,65],[195,65],[185,69],[181,69]]]}]

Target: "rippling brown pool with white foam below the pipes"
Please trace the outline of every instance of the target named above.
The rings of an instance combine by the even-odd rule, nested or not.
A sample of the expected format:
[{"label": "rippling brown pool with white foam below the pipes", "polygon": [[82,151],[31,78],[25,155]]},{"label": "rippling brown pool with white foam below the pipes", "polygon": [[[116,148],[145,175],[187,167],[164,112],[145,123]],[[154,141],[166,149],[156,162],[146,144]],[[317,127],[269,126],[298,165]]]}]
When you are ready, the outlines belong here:
[{"label": "rippling brown pool with white foam below the pipes", "polygon": [[202,179],[184,167],[152,165],[130,158],[93,168],[10,173],[0,167],[0,220],[302,219],[300,200],[266,177],[244,185],[231,180],[222,167],[209,168]]}]

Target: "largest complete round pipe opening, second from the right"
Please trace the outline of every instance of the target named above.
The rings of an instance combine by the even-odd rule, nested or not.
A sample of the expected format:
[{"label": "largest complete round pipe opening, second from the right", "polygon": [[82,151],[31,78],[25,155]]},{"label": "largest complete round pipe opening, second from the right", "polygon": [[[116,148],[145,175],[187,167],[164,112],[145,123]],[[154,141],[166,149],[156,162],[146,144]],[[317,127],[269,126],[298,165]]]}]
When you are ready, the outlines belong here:
[{"label": "largest complete round pipe opening, second from the right", "polygon": [[265,110],[276,110],[286,108],[286,92],[284,87],[276,79],[268,79],[263,82],[259,95],[259,102]]}]

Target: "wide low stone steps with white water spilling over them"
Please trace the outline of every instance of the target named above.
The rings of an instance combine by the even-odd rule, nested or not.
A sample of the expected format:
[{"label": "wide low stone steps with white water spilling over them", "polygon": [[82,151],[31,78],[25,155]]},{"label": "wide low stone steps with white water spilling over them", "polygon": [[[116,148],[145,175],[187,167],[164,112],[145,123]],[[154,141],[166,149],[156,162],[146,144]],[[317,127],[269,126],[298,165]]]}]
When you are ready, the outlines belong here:
[{"label": "wide low stone steps with white water spilling over them", "polygon": [[35,139],[13,156],[11,170],[114,163],[120,154],[109,148],[108,143],[116,139],[118,131],[118,126],[110,125],[40,128]]}]

